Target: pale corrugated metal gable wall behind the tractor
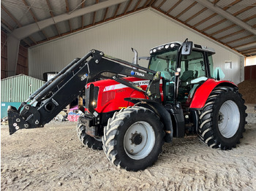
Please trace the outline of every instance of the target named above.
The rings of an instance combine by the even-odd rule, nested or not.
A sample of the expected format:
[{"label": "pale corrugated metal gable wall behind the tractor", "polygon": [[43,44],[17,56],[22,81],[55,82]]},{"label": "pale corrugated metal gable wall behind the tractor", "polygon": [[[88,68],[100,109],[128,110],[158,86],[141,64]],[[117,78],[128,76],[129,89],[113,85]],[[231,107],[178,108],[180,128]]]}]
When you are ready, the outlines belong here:
[{"label": "pale corrugated metal gable wall behind the tractor", "polygon": [[[151,47],[166,42],[183,42],[187,37],[196,44],[216,50],[214,66],[222,68],[225,79],[230,79],[236,84],[243,80],[243,57],[151,9],[31,47],[29,75],[42,79],[44,72],[60,71],[74,58],[83,57],[91,49],[102,50],[105,54],[132,61],[134,55],[131,47],[138,50],[139,56],[148,56]],[[232,62],[232,69],[225,69],[225,61]],[[146,63],[142,65],[146,66]]]}]

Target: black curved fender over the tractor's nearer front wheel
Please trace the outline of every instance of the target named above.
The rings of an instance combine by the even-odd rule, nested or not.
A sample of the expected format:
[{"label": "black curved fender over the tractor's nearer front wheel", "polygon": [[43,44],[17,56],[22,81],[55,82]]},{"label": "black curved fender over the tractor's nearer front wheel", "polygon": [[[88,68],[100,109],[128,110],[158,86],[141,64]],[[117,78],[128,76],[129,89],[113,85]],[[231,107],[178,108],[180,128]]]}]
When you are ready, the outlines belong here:
[{"label": "black curved fender over the tractor's nearer front wheel", "polygon": [[132,104],[135,104],[136,106],[143,106],[157,114],[165,127],[165,142],[170,143],[173,140],[173,123],[170,118],[170,113],[167,112],[162,104],[159,104],[157,101],[143,98],[124,98],[124,100],[132,102]]}]

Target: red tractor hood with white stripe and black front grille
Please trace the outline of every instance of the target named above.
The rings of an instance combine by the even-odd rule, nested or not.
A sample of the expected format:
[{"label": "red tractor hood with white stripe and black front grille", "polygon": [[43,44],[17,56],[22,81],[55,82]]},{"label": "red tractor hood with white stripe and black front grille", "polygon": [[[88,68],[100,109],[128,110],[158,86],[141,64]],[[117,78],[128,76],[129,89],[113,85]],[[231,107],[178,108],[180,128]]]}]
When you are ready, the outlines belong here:
[{"label": "red tractor hood with white stripe and black front grille", "polygon": [[[125,77],[124,79],[138,85],[146,90],[149,80],[137,77]],[[93,88],[93,93],[91,88]],[[90,93],[91,92],[91,93]],[[113,79],[104,79],[97,82],[91,82],[86,85],[86,111],[93,106],[98,113],[118,111],[127,108],[133,104],[124,101],[124,98],[148,98],[143,92],[120,84]]]}]

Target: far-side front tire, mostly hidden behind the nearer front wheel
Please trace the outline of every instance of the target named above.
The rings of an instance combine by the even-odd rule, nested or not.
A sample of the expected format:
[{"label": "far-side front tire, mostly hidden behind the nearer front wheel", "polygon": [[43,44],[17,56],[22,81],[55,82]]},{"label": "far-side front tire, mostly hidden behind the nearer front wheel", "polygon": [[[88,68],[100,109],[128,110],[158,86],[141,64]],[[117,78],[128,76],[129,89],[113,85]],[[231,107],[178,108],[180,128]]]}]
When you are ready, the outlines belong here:
[{"label": "far-side front tire, mostly hidden behind the nearer front wheel", "polygon": [[102,150],[102,141],[99,139],[94,139],[86,134],[86,127],[78,123],[77,127],[78,139],[83,145],[95,150]]}]

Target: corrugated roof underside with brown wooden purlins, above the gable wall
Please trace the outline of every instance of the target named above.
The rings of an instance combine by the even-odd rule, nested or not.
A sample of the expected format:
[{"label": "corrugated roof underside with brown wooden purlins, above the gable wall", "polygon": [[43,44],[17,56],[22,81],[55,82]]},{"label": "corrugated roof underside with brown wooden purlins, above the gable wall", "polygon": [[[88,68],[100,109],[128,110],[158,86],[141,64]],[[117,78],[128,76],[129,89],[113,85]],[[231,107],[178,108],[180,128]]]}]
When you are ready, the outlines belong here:
[{"label": "corrugated roof underside with brown wooden purlins, above the gable wall", "polygon": [[[1,26],[4,27],[4,31],[12,33],[15,28],[22,28],[49,18],[54,20],[54,17],[58,15],[72,15],[79,9],[100,6],[102,2],[110,1],[113,0],[2,0]],[[206,7],[206,3],[210,3],[212,7]],[[31,47],[147,8],[157,9],[164,15],[224,45],[227,45],[225,44],[227,41],[222,37],[242,29],[247,31],[248,35],[255,36],[255,32],[252,30],[253,28],[256,31],[255,0],[116,0],[114,4],[110,3],[109,7],[41,28],[37,34],[27,36],[20,43],[25,47]],[[219,14],[217,9],[221,9],[228,15]],[[208,19],[206,20],[206,18]],[[240,20],[247,26],[239,26],[233,19]],[[232,27],[227,28],[228,26]],[[233,40],[237,39],[240,44],[246,44],[246,39],[243,39],[244,35],[245,33],[236,34],[233,36]],[[254,41],[255,38],[251,37],[251,40]],[[237,45],[233,46],[233,44],[228,44],[227,47],[244,54],[240,49],[236,49]],[[256,55],[255,52],[250,54],[249,51],[253,48],[253,44],[247,44],[246,47],[248,51],[244,54],[245,56]]]}]

